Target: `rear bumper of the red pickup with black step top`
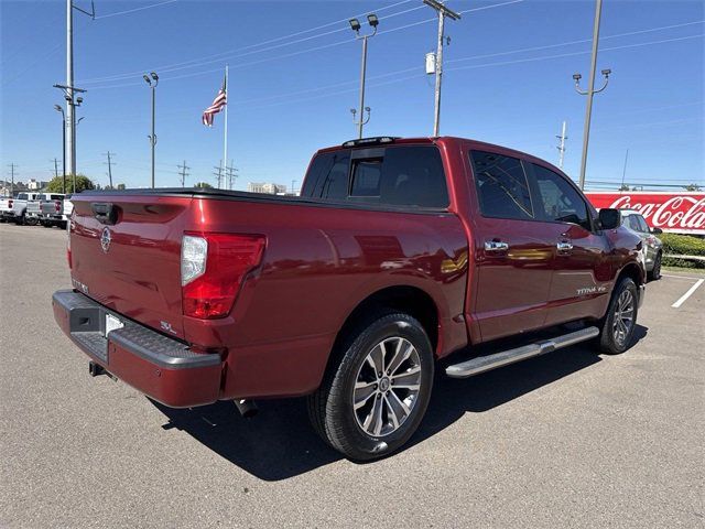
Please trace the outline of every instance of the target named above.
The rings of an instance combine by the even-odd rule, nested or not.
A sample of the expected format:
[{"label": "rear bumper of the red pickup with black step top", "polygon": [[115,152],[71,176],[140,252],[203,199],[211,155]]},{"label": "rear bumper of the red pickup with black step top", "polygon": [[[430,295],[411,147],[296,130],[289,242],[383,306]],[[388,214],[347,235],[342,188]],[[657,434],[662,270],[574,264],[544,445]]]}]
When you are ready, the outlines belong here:
[{"label": "rear bumper of the red pickup with black step top", "polygon": [[[90,359],[148,397],[173,408],[215,402],[223,360],[113,313],[73,290],[52,298],[54,319]],[[107,333],[107,320],[123,325]]]}]

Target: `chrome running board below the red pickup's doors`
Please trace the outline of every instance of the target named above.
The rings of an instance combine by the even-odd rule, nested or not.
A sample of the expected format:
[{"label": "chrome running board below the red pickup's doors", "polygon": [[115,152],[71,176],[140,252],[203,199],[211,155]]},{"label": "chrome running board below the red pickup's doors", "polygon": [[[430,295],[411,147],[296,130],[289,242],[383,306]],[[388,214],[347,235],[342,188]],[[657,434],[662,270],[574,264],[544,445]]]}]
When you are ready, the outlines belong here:
[{"label": "chrome running board below the red pickup's doors", "polygon": [[551,339],[543,339],[513,349],[502,350],[501,353],[495,353],[494,355],[479,356],[471,358],[460,364],[454,364],[445,369],[445,374],[451,378],[467,378],[479,375],[480,373],[489,371],[498,367],[508,366],[516,361],[525,360],[527,358],[533,358],[534,356],[545,355],[555,349],[561,349],[573,344],[578,344],[596,337],[599,334],[597,327],[586,327],[574,333],[564,334]]}]

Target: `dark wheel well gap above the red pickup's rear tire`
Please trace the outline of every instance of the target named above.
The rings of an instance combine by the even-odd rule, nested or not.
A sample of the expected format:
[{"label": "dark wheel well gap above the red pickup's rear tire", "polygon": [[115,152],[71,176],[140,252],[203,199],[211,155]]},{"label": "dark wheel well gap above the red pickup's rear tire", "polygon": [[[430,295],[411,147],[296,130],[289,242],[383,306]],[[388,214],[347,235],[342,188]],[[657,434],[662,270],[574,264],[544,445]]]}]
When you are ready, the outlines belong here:
[{"label": "dark wheel well gap above the red pickup's rear tire", "polygon": [[[415,287],[389,287],[362,300],[346,319],[335,339],[339,341],[364,317],[379,309],[393,309],[419,320],[435,352],[438,346],[438,310],[433,299]],[[335,348],[335,347],[334,347]]]}]

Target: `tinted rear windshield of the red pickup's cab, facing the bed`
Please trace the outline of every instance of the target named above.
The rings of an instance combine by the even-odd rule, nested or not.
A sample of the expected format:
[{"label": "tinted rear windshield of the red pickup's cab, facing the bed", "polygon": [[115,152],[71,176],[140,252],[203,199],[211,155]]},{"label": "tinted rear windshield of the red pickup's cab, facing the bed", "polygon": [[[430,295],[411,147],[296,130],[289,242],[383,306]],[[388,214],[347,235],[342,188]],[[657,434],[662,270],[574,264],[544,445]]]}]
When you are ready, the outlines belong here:
[{"label": "tinted rear windshield of the red pickup's cab, facing the bed", "polygon": [[448,190],[435,145],[324,152],[313,160],[302,196],[366,204],[445,208]]}]

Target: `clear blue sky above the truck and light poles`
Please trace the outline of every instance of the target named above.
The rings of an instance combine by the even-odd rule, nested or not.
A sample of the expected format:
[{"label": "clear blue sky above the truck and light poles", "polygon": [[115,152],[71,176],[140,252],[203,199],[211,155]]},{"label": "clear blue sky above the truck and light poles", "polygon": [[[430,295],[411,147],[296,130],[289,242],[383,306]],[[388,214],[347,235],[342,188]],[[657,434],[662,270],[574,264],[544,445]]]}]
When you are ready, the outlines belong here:
[{"label": "clear blue sky above the truck and light poles", "polygon": [[[88,0],[75,6],[90,10]],[[441,134],[473,138],[557,164],[556,136],[567,122],[564,170],[579,173],[590,64],[594,1],[448,0],[462,12],[446,23]],[[74,12],[77,170],[108,183],[150,182],[150,88],[156,88],[156,186],[215,184],[223,158],[223,115],[200,122],[229,65],[228,158],[239,177],[301,186],[313,153],[356,137],[361,43],[347,20],[375,12],[369,40],[365,136],[431,136],[435,12],[406,1],[95,0],[96,19]],[[50,180],[61,171],[66,82],[66,2],[0,0],[0,175]],[[586,180],[592,188],[626,182],[705,185],[705,2],[603,4],[597,71],[611,68],[595,96]],[[369,26],[365,25],[366,31]],[[598,74],[599,75],[599,74]],[[596,86],[601,86],[598,78]],[[605,184],[607,183],[607,184]]]}]

